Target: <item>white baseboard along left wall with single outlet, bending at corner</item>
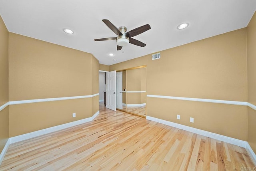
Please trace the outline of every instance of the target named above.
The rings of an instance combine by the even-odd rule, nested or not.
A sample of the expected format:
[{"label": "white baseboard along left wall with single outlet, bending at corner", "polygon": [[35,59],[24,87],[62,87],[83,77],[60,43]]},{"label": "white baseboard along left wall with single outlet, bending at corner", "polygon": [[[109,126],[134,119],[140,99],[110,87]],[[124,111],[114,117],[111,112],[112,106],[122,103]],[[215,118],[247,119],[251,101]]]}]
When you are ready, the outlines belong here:
[{"label": "white baseboard along left wall with single outlet, bending at corner", "polygon": [[88,117],[88,118],[81,119],[81,120],[78,120],[78,121],[64,123],[62,125],[57,125],[57,126],[54,126],[54,127],[41,129],[39,131],[34,131],[34,132],[26,133],[26,134],[23,134],[23,135],[18,135],[18,136],[15,136],[15,137],[11,137],[11,138],[9,138],[10,139],[10,144],[16,143],[16,142],[19,142],[19,141],[23,141],[23,140],[26,140],[26,139],[38,137],[40,135],[44,135],[44,134],[47,134],[47,133],[52,133],[52,132],[55,132],[55,131],[59,131],[61,129],[66,129],[68,127],[73,127],[73,126],[76,126],[76,125],[80,125],[82,123],[92,121],[99,113],[100,113],[100,111],[97,111],[92,117]]}]

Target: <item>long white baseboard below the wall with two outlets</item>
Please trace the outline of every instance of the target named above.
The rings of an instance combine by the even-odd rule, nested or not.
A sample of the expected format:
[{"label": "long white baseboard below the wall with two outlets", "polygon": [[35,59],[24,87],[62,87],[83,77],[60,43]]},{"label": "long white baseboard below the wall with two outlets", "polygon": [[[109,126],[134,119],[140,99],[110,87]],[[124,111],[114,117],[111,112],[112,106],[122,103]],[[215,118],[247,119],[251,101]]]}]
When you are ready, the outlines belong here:
[{"label": "long white baseboard below the wall with two outlets", "polygon": [[204,131],[204,130],[189,127],[189,126],[186,126],[186,125],[181,125],[179,123],[174,123],[174,122],[166,121],[166,120],[163,120],[163,119],[158,119],[156,117],[146,116],[146,119],[151,120],[151,121],[155,121],[155,122],[158,122],[158,123],[162,123],[164,125],[169,125],[169,126],[172,126],[172,127],[183,129],[185,131],[190,131],[192,133],[197,133],[199,135],[203,135],[203,136],[206,136],[206,137],[214,138],[214,139],[217,139],[219,141],[224,141],[226,143],[238,145],[238,146],[244,147],[244,148],[246,148],[247,144],[248,144],[247,141],[243,141],[243,140],[240,140],[240,139],[235,139],[235,138],[227,137],[227,136],[224,136],[224,135]]}]

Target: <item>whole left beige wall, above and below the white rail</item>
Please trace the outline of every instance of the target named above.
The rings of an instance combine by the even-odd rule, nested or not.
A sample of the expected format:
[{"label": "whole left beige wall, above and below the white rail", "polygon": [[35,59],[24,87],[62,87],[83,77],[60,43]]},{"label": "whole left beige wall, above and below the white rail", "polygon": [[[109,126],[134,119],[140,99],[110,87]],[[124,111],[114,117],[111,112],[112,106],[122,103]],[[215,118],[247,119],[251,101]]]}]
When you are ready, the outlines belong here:
[{"label": "whole left beige wall, above and below the white rail", "polygon": [[[9,99],[93,95],[98,60],[86,52],[9,33]],[[91,117],[98,96],[9,106],[10,137]],[[72,117],[76,113],[76,117]]]}]

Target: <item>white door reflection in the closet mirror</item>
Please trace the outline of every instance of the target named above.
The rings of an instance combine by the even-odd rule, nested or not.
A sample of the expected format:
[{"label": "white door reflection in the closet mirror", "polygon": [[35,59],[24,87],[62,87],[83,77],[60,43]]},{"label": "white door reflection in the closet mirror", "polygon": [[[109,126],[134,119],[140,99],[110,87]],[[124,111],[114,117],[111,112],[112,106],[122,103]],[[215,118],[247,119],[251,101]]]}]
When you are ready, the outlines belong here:
[{"label": "white door reflection in the closet mirror", "polygon": [[116,73],[116,108],[123,109],[123,72]]}]

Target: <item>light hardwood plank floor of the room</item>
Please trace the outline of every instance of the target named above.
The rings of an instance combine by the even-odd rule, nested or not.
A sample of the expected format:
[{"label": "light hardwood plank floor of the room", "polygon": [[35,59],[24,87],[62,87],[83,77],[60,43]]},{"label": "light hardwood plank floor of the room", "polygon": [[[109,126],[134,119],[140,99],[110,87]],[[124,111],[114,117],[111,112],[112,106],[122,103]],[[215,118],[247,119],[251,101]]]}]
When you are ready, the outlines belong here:
[{"label": "light hardwood plank floor of the room", "polygon": [[100,105],[91,122],[11,144],[5,170],[253,170],[246,149]]}]

